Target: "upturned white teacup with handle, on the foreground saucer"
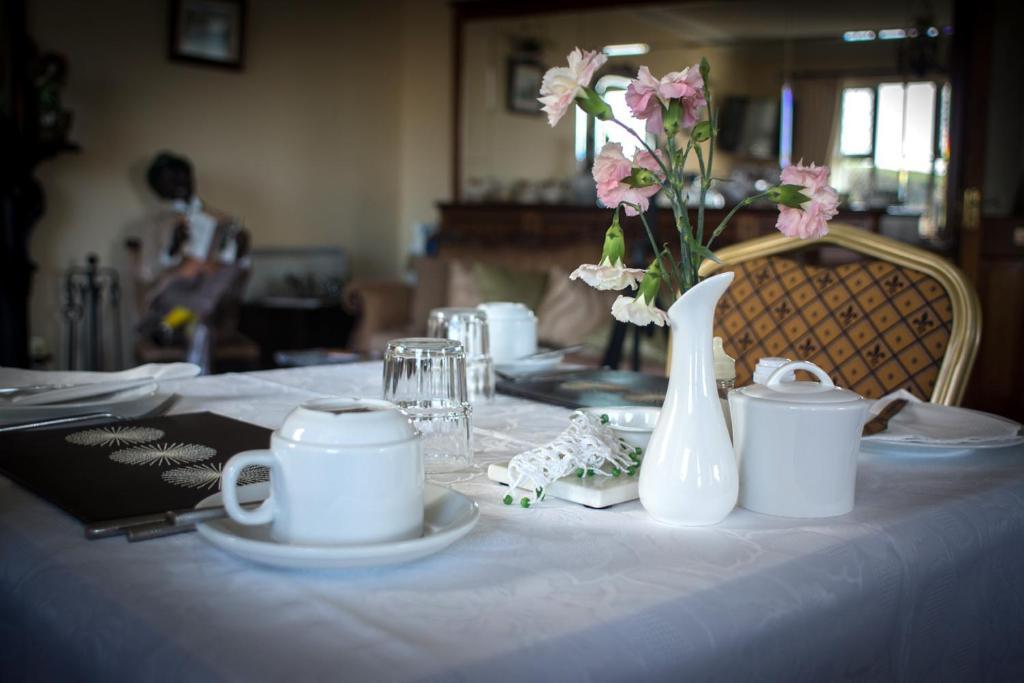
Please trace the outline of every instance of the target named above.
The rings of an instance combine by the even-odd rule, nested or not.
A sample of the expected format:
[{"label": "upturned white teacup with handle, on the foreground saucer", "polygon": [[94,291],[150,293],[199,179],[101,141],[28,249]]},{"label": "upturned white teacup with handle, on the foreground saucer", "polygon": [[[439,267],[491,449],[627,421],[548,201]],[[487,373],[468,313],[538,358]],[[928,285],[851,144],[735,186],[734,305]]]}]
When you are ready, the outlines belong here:
[{"label": "upturned white teacup with handle, on the foreground saucer", "polygon": [[[239,505],[252,465],[270,468],[270,497]],[[358,545],[423,533],[420,433],[386,400],[326,398],[296,408],[268,451],[240,453],[221,475],[224,509],[240,524],[271,524],[279,543]]]}]

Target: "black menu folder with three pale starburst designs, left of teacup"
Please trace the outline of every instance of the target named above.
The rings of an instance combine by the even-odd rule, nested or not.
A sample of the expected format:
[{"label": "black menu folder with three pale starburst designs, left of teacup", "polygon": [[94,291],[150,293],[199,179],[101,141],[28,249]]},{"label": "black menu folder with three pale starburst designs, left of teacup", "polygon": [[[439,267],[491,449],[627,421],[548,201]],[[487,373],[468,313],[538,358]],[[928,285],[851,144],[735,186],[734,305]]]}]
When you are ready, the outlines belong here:
[{"label": "black menu folder with three pale starburst designs, left of teacup", "polygon": [[[194,507],[270,430],[212,413],[0,434],[0,473],[86,523]],[[266,470],[244,472],[243,483]]]}]

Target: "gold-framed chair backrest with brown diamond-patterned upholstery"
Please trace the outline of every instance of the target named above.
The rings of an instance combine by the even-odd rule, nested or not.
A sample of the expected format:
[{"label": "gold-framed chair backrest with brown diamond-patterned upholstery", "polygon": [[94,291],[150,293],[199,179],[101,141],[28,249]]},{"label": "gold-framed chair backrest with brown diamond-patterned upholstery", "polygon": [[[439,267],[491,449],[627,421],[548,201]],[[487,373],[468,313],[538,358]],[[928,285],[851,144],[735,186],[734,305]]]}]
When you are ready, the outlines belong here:
[{"label": "gold-framed chair backrest with brown diamond-patterned upholstery", "polygon": [[[798,250],[836,245],[853,262],[814,265]],[[717,253],[701,274],[732,270],[715,334],[736,358],[736,384],[750,383],[758,358],[811,360],[840,385],[868,398],[905,388],[957,404],[981,336],[978,296],[942,257],[848,225],[816,242],[781,234]],[[848,260],[848,259],[847,259]]]}]

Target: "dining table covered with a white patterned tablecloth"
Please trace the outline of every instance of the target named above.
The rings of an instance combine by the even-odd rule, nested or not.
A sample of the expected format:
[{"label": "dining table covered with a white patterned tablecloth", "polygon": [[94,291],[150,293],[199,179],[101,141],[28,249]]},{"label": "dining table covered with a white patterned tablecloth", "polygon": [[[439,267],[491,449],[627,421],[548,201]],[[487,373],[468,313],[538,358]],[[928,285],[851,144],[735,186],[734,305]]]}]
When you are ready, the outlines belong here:
[{"label": "dining table covered with a white patterned tablecloth", "polygon": [[[266,428],[379,397],[380,362],[162,383],[173,414]],[[859,457],[854,510],[736,508],[705,527],[637,501],[505,505],[489,480],[571,411],[474,405],[474,465],[428,475],[479,505],[392,566],[279,569],[198,533],[88,541],[0,476],[0,681],[1021,681],[1024,447]]]}]

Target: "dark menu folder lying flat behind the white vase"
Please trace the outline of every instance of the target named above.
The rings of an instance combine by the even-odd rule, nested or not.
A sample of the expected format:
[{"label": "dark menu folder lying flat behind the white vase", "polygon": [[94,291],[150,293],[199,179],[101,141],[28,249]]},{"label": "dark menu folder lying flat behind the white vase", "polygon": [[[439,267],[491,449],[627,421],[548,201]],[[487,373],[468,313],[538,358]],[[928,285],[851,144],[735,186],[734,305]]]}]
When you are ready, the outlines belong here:
[{"label": "dark menu folder lying flat behind the white vase", "polygon": [[669,378],[620,370],[584,370],[502,380],[499,393],[565,408],[660,407]]}]

